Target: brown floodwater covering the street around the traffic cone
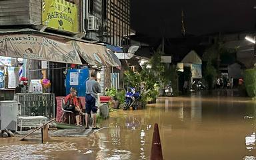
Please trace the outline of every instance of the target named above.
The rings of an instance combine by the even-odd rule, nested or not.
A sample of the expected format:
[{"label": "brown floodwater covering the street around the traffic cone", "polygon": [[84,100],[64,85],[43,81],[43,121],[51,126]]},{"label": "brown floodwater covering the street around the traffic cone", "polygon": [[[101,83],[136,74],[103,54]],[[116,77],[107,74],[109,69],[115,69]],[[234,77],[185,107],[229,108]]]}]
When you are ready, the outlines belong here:
[{"label": "brown floodwater covering the street around the traffic cone", "polygon": [[0,139],[0,159],[149,159],[158,123],[164,159],[256,159],[256,102],[239,97],[169,97],[114,111],[87,137],[46,144]]}]

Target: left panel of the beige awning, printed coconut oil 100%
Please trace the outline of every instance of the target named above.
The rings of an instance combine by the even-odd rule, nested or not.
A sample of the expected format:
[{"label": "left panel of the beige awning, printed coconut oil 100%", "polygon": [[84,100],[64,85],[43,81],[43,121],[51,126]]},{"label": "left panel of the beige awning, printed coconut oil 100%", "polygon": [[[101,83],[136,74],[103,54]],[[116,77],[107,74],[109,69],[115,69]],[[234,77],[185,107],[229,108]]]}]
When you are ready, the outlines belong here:
[{"label": "left panel of the beige awning, printed coconut oil 100%", "polygon": [[81,64],[71,41],[39,35],[0,35],[0,56]]}]

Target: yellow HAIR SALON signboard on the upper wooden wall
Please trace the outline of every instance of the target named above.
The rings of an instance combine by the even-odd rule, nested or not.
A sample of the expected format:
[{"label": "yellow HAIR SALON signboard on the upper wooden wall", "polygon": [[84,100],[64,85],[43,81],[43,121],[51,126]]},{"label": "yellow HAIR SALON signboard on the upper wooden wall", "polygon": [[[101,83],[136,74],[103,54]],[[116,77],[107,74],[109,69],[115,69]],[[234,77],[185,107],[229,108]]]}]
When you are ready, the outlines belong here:
[{"label": "yellow HAIR SALON signboard on the upper wooden wall", "polygon": [[77,5],[65,0],[43,0],[42,23],[54,29],[77,32]]}]

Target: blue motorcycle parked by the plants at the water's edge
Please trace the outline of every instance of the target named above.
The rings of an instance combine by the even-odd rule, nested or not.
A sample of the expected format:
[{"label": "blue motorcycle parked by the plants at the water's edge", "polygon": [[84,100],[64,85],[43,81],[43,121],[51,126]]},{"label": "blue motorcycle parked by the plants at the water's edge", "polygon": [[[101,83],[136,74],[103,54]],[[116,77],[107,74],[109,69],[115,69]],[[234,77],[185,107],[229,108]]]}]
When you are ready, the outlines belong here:
[{"label": "blue motorcycle parked by the plants at the water's edge", "polygon": [[127,89],[127,92],[125,93],[125,105],[123,106],[123,110],[127,110],[130,107],[137,109],[140,99],[141,93],[136,92],[135,88],[131,87],[130,89]]}]

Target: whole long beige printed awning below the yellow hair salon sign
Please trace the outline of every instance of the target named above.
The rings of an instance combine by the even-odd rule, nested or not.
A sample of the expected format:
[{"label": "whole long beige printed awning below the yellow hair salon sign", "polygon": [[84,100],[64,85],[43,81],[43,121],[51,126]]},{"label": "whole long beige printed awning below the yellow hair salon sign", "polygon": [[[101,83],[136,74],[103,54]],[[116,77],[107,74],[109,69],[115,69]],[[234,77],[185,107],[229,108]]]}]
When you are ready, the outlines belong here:
[{"label": "whole long beige printed awning below the yellow hair salon sign", "polygon": [[89,65],[121,67],[105,45],[33,29],[0,31],[0,56],[82,64],[79,55]]}]

